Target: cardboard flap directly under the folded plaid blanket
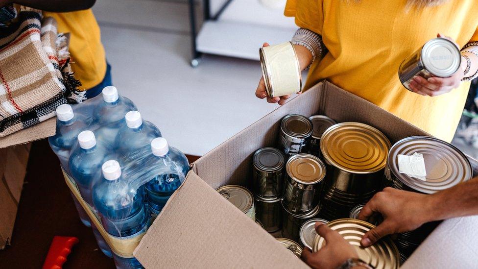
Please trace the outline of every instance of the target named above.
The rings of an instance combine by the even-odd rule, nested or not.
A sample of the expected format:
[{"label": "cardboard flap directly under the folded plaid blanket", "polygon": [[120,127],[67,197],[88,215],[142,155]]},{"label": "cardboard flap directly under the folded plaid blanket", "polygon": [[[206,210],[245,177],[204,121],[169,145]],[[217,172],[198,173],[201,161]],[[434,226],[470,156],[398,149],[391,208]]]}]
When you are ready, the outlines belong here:
[{"label": "cardboard flap directly under the folded plaid blanket", "polygon": [[0,138],[0,148],[26,144],[55,134],[56,117]]}]

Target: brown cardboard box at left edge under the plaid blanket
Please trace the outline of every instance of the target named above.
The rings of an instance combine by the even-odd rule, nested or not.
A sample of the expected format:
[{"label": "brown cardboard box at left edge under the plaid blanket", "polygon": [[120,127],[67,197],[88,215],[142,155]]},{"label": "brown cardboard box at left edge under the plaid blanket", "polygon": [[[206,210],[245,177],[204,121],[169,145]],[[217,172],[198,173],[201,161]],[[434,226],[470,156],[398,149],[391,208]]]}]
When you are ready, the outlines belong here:
[{"label": "brown cardboard box at left edge under the plaid blanket", "polygon": [[55,134],[55,119],[0,138],[0,249],[10,244],[31,141]]}]

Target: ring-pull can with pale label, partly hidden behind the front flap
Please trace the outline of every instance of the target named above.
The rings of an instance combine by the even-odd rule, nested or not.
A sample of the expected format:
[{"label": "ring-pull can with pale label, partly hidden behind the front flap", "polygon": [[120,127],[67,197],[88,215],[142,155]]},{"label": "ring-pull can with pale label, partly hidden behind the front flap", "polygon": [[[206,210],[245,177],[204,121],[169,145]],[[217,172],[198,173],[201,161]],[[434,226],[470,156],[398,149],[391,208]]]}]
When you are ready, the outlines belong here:
[{"label": "ring-pull can with pale label, partly hidden behind the front flap", "polygon": [[226,185],[216,190],[251,220],[256,221],[256,210],[254,208],[254,197],[246,188],[239,185]]}]

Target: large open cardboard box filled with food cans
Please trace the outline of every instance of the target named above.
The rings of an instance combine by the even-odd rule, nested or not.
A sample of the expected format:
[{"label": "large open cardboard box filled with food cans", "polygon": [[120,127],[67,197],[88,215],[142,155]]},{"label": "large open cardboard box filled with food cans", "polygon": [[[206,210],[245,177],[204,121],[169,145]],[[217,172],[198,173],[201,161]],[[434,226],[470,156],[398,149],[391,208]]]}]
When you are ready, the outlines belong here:
[{"label": "large open cardboard box filled with food cans", "polygon": [[[323,82],[287,102],[258,122],[216,147],[193,163],[185,183],[169,199],[149,228],[134,255],[146,268],[307,268],[275,239],[247,218],[215,189],[222,185],[249,186],[251,158],[255,150],[275,146],[281,119],[287,114],[327,115],[337,122],[363,122],[380,129],[392,143],[413,135],[428,135],[376,105]],[[220,126],[218,126],[220,128]],[[471,160],[474,175],[478,163]],[[444,221],[412,255],[405,268],[440,268],[440,259],[476,267],[475,238],[458,236],[476,227],[478,218]],[[450,224],[456,225],[450,230]],[[474,229],[477,230],[477,229]],[[453,245],[453,256],[434,249],[433,244],[450,233],[461,241]],[[475,232],[476,235],[476,232]],[[471,245],[470,245],[471,244]],[[475,244],[475,245],[473,245]],[[472,250],[470,249],[472,246]],[[469,251],[460,251],[468,249]],[[450,252],[452,254],[452,252]],[[430,261],[433,260],[433,263]],[[466,262],[464,261],[466,260]],[[474,261],[474,263],[473,263]],[[450,262],[448,263],[450,264]],[[456,264],[455,264],[456,267]]]}]

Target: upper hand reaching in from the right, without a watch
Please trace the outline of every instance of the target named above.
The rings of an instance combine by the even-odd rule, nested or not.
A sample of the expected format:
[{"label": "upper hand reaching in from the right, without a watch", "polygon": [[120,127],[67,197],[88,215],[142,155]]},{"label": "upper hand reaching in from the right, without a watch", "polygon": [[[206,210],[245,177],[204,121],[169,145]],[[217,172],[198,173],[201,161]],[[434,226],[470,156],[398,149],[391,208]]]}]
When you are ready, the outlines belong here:
[{"label": "upper hand reaching in from the right, without a watch", "polygon": [[359,220],[369,220],[375,214],[381,214],[383,221],[376,228],[368,231],[361,240],[361,245],[367,247],[382,237],[415,230],[425,222],[433,220],[430,196],[385,188],[377,193],[361,209]]}]

